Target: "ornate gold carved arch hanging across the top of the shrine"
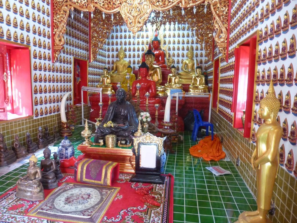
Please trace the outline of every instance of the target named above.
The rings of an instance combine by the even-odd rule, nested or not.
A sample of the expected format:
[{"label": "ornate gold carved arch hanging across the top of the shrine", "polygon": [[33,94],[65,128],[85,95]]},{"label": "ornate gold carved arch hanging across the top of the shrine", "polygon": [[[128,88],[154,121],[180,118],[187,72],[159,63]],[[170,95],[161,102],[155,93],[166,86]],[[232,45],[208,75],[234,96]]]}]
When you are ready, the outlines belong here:
[{"label": "ornate gold carved arch hanging across the top of the shrine", "polygon": [[[165,11],[177,4],[182,8],[201,3],[210,4],[214,22],[214,40],[223,56],[227,46],[228,0],[53,0],[53,61],[65,44],[64,34],[70,10],[93,12],[98,8],[105,13],[120,12],[128,29],[136,34],[144,25],[152,10]],[[97,51],[98,52],[98,51]]]}]

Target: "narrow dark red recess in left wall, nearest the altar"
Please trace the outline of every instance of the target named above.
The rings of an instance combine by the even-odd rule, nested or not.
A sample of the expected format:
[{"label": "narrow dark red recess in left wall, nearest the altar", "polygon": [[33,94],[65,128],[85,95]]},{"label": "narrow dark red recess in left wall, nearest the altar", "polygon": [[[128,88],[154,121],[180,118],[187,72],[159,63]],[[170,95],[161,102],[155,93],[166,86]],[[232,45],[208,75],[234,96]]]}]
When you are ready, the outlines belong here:
[{"label": "narrow dark red recess in left wall, nearest the altar", "polygon": [[[73,70],[73,104],[81,105],[81,87],[88,86],[88,61],[74,58]],[[83,92],[83,103],[88,103],[88,92],[86,91]]]}]

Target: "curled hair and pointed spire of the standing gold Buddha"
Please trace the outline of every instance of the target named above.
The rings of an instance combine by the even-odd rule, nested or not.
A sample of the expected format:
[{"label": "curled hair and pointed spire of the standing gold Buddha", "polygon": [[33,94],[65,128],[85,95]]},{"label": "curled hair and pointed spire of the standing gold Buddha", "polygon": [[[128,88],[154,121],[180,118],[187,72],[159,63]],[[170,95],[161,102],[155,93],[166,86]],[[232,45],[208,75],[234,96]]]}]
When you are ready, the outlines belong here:
[{"label": "curled hair and pointed spire of the standing gold Buddha", "polygon": [[265,105],[268,109],[268,112],[271,114],[273,112],[273,116],[277,117],[277,114],[279,112],[280,102],[277,99],[277,97],[275,96],[272,79],[270,81],[270,85],[269,85],[267,92],[268,92],[267,96],[265,98],[263,98],[262,100],[260,100],[260,104]]}]

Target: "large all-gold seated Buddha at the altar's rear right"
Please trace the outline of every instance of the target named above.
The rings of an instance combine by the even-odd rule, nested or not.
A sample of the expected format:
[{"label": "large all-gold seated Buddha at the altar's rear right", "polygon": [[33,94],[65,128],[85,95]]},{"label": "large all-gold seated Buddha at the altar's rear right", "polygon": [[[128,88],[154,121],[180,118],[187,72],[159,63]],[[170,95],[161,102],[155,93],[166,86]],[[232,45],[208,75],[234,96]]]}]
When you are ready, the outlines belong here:
[{"label": "large all-gold seated Buddha at the altar's rear right", "polygon": [[179,73],[180,83],[181,84],[191,84],[192,75],[195,75],[195,61],[193,59],[194,51],[192,46],[190,50],[187,52],[186,56],[188,59],[184,60],[181,65],[181,72]]}]

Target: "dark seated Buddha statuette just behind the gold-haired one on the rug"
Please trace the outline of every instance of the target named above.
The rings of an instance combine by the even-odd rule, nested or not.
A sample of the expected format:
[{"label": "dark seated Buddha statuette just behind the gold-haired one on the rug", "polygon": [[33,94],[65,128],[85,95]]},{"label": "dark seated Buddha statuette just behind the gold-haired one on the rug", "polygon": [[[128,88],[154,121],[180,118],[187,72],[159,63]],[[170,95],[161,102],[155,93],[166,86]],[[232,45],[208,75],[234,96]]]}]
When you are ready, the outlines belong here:
[{"label": "dark seated Buddha statuette just behind the gold-haired one on the rug", "polygon": [[43,150],[43,159],[40,162],[40,169],[42,171],[42,179],[40,182],[44,189],[53,189],[58,186],[58,182],[54,171],[56,170],[56,162],[50,159],[50,149],[48,147]]}]

